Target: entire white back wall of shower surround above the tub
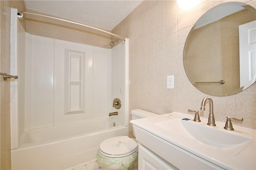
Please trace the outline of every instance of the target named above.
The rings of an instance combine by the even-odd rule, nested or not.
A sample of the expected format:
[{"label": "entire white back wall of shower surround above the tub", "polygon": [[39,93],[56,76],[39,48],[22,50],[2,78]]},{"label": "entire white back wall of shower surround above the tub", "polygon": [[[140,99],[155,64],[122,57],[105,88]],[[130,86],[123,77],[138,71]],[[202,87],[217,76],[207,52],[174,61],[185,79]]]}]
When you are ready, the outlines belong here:
[{"label": "entire white back wall of shower surround above the tub", "polygon": [[[111,49],[26,33],[25,51],[24,130],[108,117]],[[71,80],[72,72],[80,72],[79,80]]]}]

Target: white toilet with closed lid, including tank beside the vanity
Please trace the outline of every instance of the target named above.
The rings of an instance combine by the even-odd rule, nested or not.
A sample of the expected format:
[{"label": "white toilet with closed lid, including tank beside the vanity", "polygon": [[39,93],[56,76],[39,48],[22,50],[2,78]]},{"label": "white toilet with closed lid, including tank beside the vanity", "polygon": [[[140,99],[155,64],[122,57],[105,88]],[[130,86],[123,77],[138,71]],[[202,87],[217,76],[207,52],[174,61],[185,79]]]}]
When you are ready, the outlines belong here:
[{"label": "white toilet with closed lid, including tank beside the vanity", "polygon": [[[156,116],[142,109],[131,111],[132,120]],[[116,136],[101,142],[97,154],[102,170],[127,170],[138,164],[138,142],[128,136]]]}]

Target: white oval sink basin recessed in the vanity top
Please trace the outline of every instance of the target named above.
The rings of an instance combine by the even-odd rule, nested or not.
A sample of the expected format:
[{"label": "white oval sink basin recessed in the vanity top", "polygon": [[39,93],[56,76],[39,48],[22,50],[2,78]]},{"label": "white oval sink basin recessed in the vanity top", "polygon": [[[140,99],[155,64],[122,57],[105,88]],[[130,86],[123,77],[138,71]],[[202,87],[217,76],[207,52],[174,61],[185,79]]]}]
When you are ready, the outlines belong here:
[{"label": "white oval sink basin recessed in the vanity top", "polygon": [[220,130],[193,120],[175,118],[155,123],[155,125],[185,138],[194,139],[199,143],[216,148],[241,146],[250,141],[250,138],[246,136],[233,134],[228,130],[224,130],[224,128]]}]

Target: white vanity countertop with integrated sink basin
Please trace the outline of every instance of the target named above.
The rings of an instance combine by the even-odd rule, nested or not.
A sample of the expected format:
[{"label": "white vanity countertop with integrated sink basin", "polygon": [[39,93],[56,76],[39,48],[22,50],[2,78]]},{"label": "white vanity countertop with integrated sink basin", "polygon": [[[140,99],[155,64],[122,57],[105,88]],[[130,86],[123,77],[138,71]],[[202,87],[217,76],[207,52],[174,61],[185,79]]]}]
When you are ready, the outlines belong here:
[{"label": "white vanity countertop with integrated sink basin", "polygon": [[[189,120],[182,120],[184,118]],[[208,126],[205,118],[201,118],[201,122],[193,119],[194,116],[172,112],[130,122],[221,168],[256,169],[256,130],[233,125],[234,130],[229,131],[222,122]],[[188,126],[184,128],[182,124]],[[220,144],[204,138],[209,134],[213,140],[220,140]],[[229,136],[235,140],[223,140],[229,140]]]}]

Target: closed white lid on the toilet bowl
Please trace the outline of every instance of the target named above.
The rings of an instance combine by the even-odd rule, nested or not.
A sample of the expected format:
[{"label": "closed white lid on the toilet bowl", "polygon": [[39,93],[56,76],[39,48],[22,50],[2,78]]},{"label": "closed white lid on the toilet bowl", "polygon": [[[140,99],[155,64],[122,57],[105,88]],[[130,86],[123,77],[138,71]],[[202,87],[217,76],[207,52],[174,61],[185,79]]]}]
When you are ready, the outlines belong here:
[{"label": "closed white lid on the toilet bowl", "polygon": [[105,154],[111,155],[111,157],[132,154],[137,149],[138,143],[129,138],[128,136],[116,136],[106,139],[100,144],[100,151],[104,152]]}]

